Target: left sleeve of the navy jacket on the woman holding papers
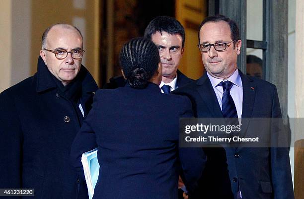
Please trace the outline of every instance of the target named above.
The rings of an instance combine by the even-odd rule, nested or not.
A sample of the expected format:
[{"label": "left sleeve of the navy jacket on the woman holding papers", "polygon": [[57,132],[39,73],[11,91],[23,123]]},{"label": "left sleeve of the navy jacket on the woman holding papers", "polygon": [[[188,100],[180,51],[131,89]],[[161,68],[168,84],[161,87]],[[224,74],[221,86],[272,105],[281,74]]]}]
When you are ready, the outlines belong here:
[{"label": "left sleeve of the navy jacket on the woman holding papers", "polygon": [[92,128],[92,125],[96,122],[95,112],[98,109],[98,97],[97,93],[94,96],[94,102],[92,109],[84,120],[79,132],[71,146],[70,161],[75,167],[77,174],[84,178],[83,167],[81,163],[82,153],[90,151],[97,147],[96,134]]}]

